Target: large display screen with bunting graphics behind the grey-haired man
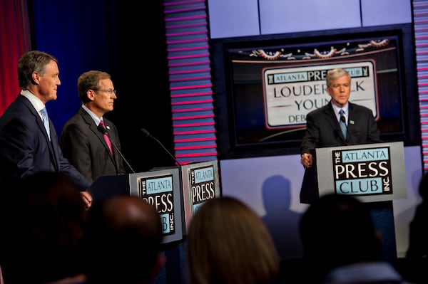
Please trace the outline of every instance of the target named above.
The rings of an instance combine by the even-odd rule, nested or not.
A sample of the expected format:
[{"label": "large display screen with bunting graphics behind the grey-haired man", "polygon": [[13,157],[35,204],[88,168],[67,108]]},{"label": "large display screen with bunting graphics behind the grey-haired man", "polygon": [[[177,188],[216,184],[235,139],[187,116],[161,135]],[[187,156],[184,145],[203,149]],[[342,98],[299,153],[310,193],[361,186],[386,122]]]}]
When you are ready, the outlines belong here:
[{"label": "large display screen with bunting graphics behind the grey-haired man", "polygon": [[404,53],[410,49],[413,54],[404,33],[403,27],[218,41],[213,52],[221,51],[223,62],[215,63],[213,71],[215,80],[224,78],[214,86],[220,144],[228,140],[232,152],[297,147],[307,113],[330,101],[325,75],[332,68],[350,72],[350,102],[372,110],[382,140],[409,139],[407,125],[413,118],[407,115],[407,97],[414,95],[409,94],[414,78],[412,83],[406,78],[415,71],[404,65]]}]

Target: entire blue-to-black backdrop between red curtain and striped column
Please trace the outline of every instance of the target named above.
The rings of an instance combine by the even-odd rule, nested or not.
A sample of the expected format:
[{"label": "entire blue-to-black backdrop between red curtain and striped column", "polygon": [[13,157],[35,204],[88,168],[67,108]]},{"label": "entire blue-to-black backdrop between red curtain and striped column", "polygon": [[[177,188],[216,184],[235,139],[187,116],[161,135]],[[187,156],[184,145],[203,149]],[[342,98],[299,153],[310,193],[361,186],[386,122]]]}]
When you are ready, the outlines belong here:
[{"label": "entire blue-to-black backdrop between red curtain and striped column", "polygon": [[136,172],[174,165],[145,128],[173,152],[163,1],[143,9],[118,0],[33,0],[33,49],[58,58],[58,99],[46,104],[56,131],[81,106],[77,78],[87,70],[111,74],[118,91],[113,112],[124,156]]}]

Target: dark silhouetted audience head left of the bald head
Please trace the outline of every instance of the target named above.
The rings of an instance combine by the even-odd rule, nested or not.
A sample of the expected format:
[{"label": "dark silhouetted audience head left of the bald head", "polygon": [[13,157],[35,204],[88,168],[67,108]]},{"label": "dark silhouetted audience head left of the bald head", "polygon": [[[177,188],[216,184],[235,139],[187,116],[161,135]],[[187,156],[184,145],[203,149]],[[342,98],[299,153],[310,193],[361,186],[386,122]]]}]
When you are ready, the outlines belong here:
[{"label": "dark silhouetted audience head left of the bald head", "polygon": [[[80,250],[86,206],[71,179],[38,172],[19,184],[16,223],[16,278],[6,283],[51,283],[65,278],[84,280]],[[11,246],[15,246],[11,244]]]}]

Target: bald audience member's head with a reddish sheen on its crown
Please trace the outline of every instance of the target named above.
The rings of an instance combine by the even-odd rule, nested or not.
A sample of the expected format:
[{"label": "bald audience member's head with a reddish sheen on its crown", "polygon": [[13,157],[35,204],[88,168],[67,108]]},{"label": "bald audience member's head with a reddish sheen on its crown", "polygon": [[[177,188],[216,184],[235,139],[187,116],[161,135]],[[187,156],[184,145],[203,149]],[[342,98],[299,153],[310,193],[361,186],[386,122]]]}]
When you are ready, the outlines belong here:
[{"label": "bald audience member's head with a reddish sheen on its crown", "polygon": [[112,196],[88,211],[87,283],[151,283],[165,263],[158,211],[137,196]]}]

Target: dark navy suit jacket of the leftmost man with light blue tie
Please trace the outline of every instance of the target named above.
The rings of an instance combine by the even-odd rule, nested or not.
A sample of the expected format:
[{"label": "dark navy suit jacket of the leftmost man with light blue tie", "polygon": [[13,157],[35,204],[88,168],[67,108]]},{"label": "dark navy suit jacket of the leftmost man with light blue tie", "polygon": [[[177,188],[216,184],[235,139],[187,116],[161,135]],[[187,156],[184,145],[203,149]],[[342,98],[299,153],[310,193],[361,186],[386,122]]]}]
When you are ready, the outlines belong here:
[{"label": "dark navy suit jacket of the leftmost man with light blue tie", "polygon": [[7,108],[0,117],[0,186],[48,171],[66,174],[82,191],[88,189],[91,182],[63,157],[50,119],[49,124],[51,141],[39,113],[24,95]]}]

